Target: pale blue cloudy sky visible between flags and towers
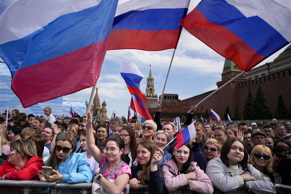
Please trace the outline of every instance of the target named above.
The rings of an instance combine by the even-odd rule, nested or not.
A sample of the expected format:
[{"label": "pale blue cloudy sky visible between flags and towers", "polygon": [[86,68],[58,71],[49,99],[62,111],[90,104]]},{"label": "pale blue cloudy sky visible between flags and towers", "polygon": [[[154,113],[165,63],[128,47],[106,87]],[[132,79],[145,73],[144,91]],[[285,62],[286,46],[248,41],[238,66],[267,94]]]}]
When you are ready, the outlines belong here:
[{"label": "pale blue cloudy sky visible between flags and towers", "polygon": [[[14,1],[1,0],[0,13]],[[119,0],[119,4],[127,1]],[[291,1],[289,0],[275,1],[291,8]],[[199,0],[192,0],[188,13],[199,2]],[[259,65],[272,62],[287,46],[265,59]],[[149,65],[151,64],[155,92],[161,95],[172,53],[173,49],[165,51],[141,51],[134,49],[107,51],[98,80],[100,104],[104,100],[107,103],[107,116],[110,118],[112,112],[115,111],[117,116],[124,115],[127,117],[131,95],[119,72],[119,62],[121,59],[134,62],[145,76],[140,83],[142,92],[146,92],[146,78],[149,75]],[[165,93],[178,94],[179,99],[182,100],[217,89],[216,82],[221,80],[224,60],[221,55],[183,29],[172,62]],[[92,87],[66,95],[63,99],[79,102],[85,102],[87,99],[89,101],[91,91]]]}]

